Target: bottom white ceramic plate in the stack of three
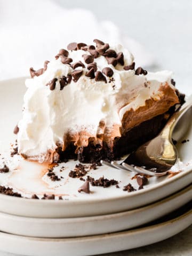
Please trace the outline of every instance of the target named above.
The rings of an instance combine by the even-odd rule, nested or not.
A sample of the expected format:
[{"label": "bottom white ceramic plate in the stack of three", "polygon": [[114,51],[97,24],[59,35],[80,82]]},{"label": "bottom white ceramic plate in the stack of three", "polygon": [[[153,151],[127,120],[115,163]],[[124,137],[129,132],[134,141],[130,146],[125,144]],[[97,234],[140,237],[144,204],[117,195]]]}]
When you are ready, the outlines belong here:
[{"label": "bottom white ceramic plate in the stack of three", "polygon": [[192,210],[189,210],[152,226],[98,236],[56,239],[0,233],[1,250],[31,256],[95,255],[156,243],[179,233],[191,223]]}]

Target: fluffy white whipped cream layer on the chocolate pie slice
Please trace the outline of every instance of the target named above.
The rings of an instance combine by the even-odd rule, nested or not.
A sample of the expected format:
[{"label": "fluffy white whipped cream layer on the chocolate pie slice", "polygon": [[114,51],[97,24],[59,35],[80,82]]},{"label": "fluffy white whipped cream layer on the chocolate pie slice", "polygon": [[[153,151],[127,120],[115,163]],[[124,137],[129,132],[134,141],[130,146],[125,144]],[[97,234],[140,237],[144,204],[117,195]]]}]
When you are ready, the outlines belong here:
[{"label": "fluffy white whipped cream layer on the chocolate pie slice", "polygon": [[[110,46],[109,49],[123,52],[124,66],[133,64],[133,55],[122,45]],[[103,55],[94,59],[97,71],[109,67],[113,70],[113,76],[106,76],[107,83],[90,79],[86,76],[89,70],[83,54],[90,53],[69,51],[68,58],[73,59],[70,64],[63,64],[61,57],[53,59],[42,75],[26,80],[28,90],[24,96],[23,117],[18,123],[20,154],[31,158],[41,155],[39,161],[43,162],[44,155],[48,150],[54,151],[58,142],[65,150],[65,138],[70,134],[75,145],[87,146],[90,137],[97,141],[97,135],[105,133],[101,123],[105,124],[105,131],[109,131],[108,137],[112,140],[121,137],[119,127],[127,111],[136,111],[145,106],[148,99],[161,100],[164,86],[169,86],[174,93],[172,72],[135,75],[134,70],[124,70],[120,63],[115,67],[108,64]],[[75,70],[82,70],[83,74],[76,82],[72,79],[60,90],[60,79],[70,75],[74,70],[73,63],[78,61],[85,68],[77,67]],[[53,78],[57,78],[57,81],[55,89],[50,90],[47,84]]]}]

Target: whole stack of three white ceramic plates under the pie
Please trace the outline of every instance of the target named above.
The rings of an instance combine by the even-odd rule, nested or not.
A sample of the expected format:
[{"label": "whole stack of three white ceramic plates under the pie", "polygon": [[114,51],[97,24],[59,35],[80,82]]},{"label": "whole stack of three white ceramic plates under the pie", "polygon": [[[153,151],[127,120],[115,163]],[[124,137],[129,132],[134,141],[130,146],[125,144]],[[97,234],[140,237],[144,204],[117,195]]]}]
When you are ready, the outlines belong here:
[{"label": "whole stack of three white ceramic plates under the pie", "polygon": [[[4,125],[0,127],[0,149],[4,150],[12,140],[12,127],[19,119],[23,79],[1,84],[0,119]],[[17,99],[15,87],[18,95],[21,94]],[[10,100],[7,102],[8,94]],[[10,101],[15,102],[14,108]],[[192,129],[187,139],[192,141]],[[190,141],[179,143],[179,155],[185,163],[179,174],[171,178],[149,178],[148,185],[131,193],[123,191],[123,187],[131,182],[138,188],[138,184],[131,179],[133,173],[124,170],[101,166],[90,171],[89,175],[94,178],[105,175],[108,179],[121,181],[120,188],[91,186],[92,193],[85,194],[77,192],[82,181],[68,177],[75,164],[73,161],[66,163],[62,172],[66,183],[49,188],[45,188],[43,182],[37,182],[35,175],[39,170],[35,163],[24,164],[23,170],[14,171],[9,177],[13,188],[26,194],[42,194],[43,191],[61,194],[60,189],[67,193],[63,192],[65,196],[59,201],[0,195],[0,249],[33,256],[63,253],[85,256],[131,249],[179,233],[192,223]],[[0,183],[6,178],[3,175],[0,174]],[[165,215],[166,218],[162,218]]]}]

